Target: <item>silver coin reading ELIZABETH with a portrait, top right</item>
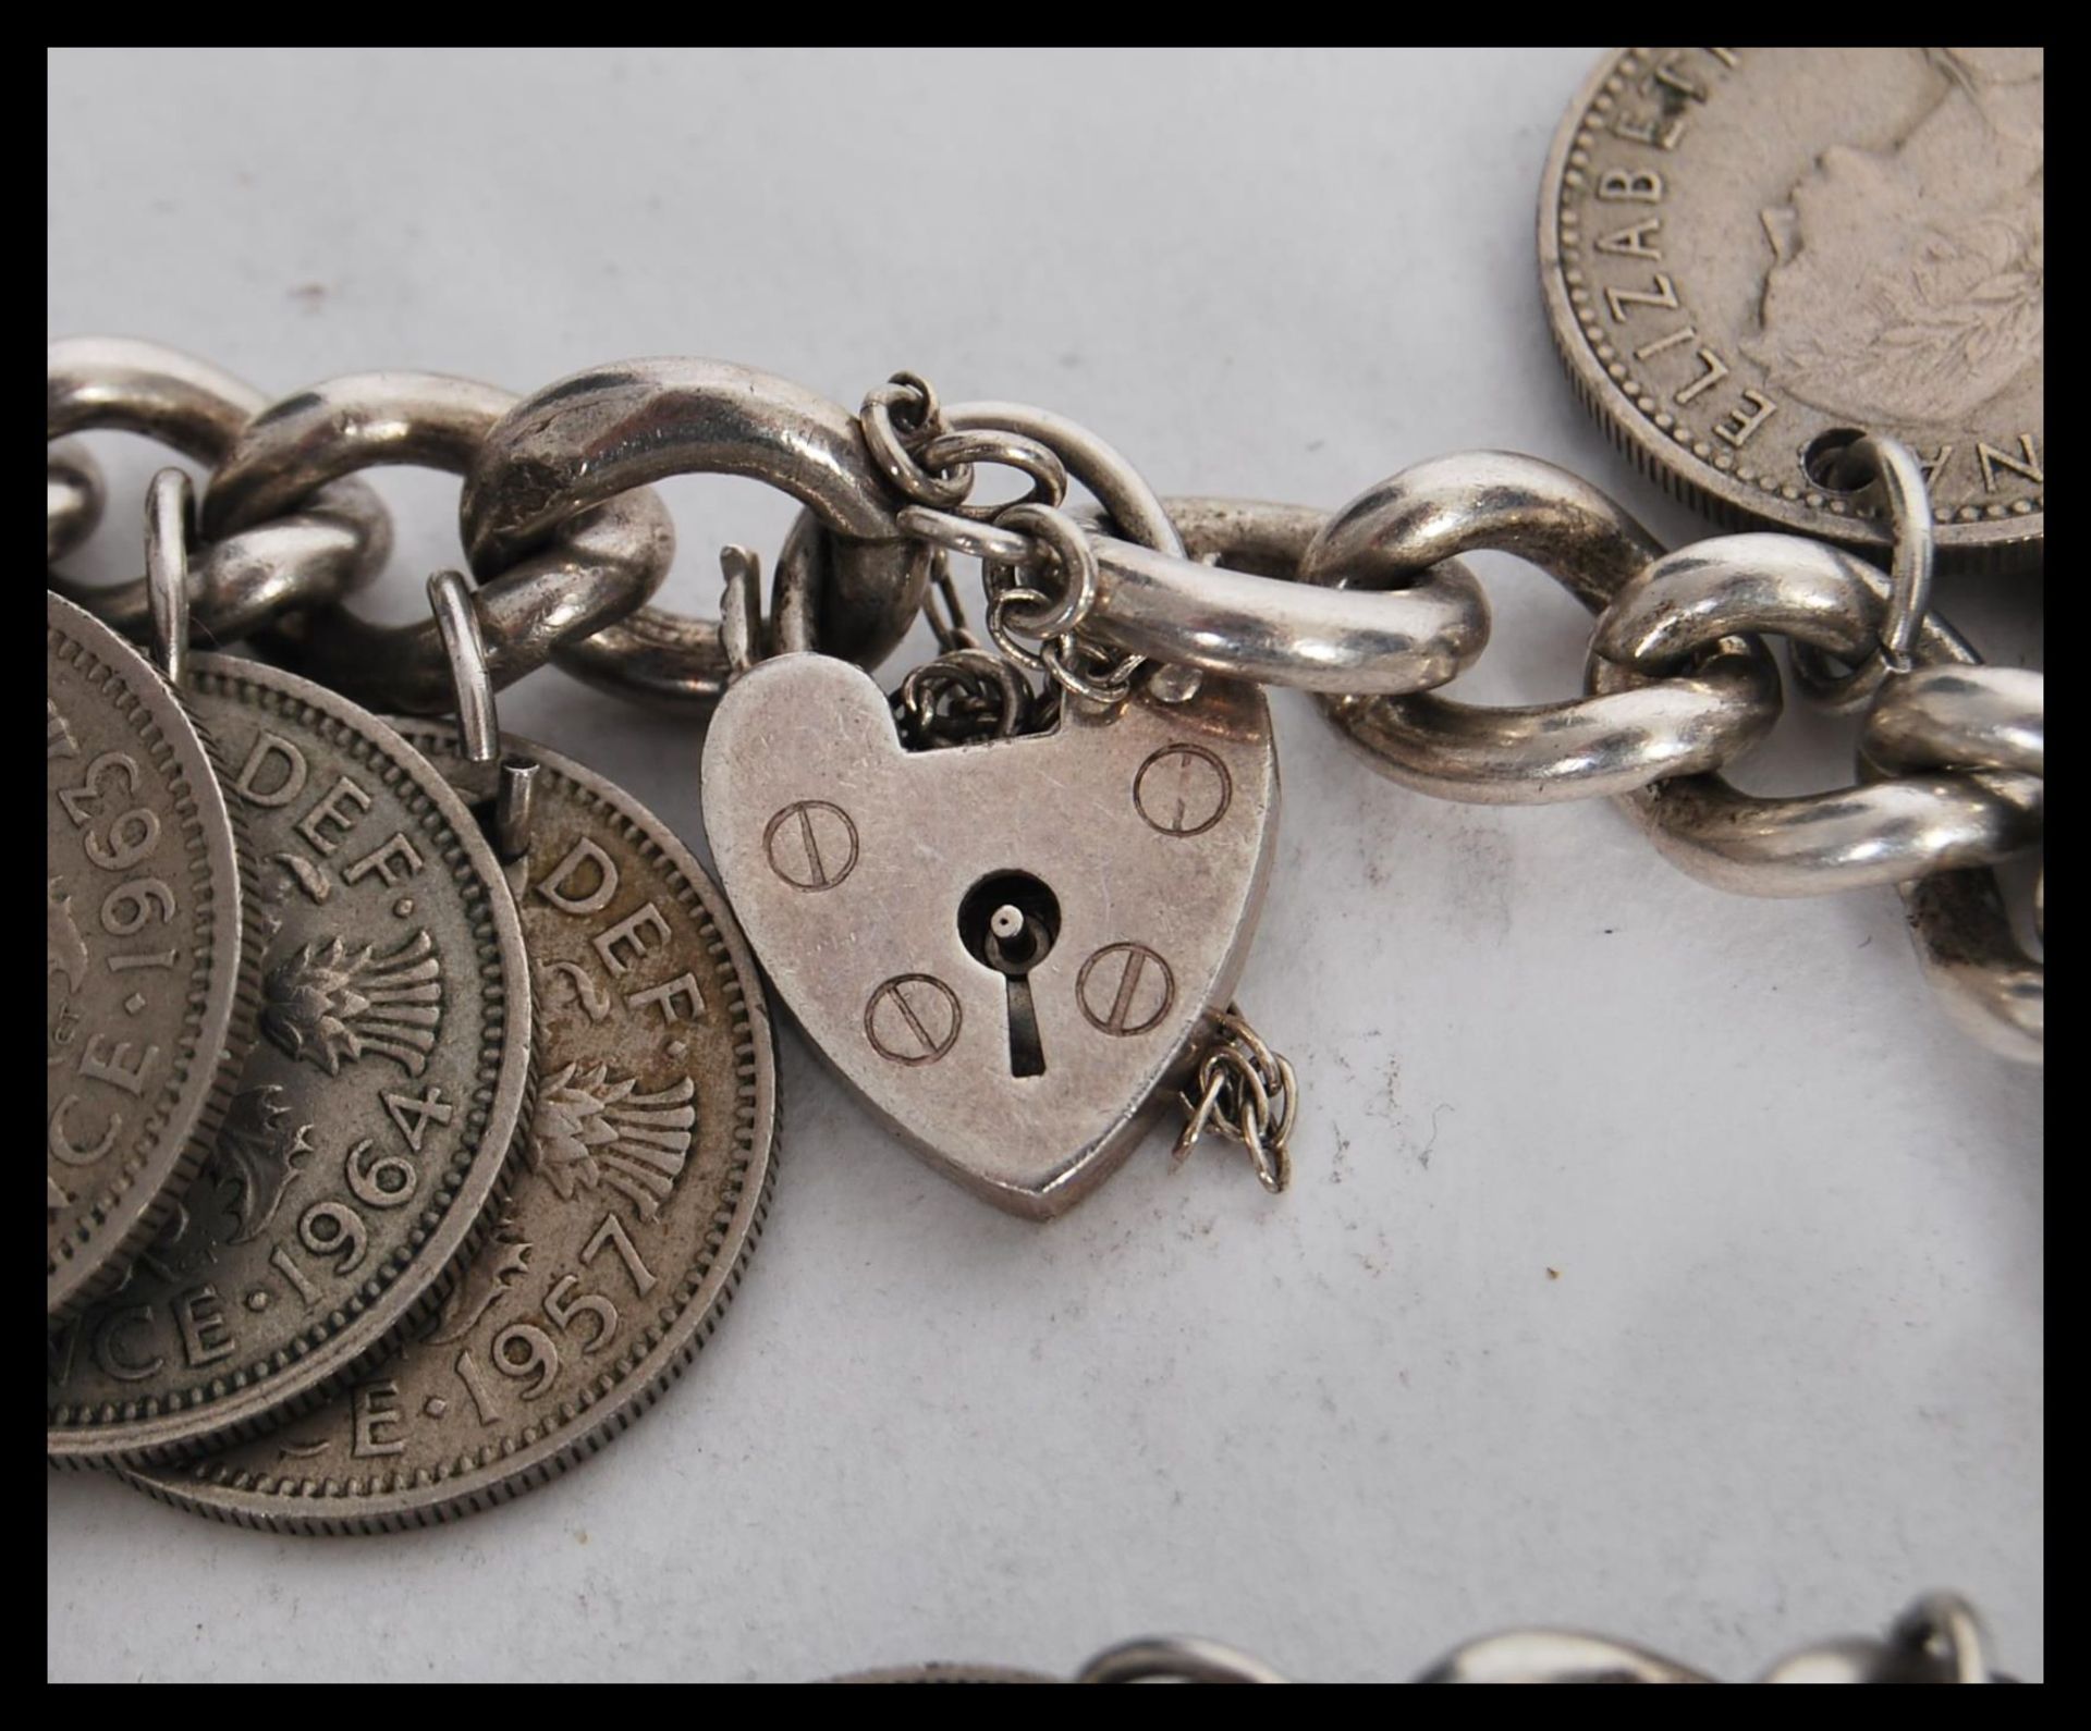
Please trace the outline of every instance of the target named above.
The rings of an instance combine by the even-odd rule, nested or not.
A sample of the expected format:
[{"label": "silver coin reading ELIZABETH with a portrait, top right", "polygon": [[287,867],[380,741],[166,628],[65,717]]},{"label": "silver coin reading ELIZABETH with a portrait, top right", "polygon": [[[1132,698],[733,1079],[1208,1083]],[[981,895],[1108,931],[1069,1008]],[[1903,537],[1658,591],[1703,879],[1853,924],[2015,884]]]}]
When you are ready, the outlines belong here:
[{"label": "silver coin reading ELIZABETH with a portrait, top right", "polygon": [[1834,458],[1926,466],[1947,571],[2039,560],[2041,48],[1627,48],[1577,92],[1539,263],[1577,393],[1733,527],[1886,552]]}]

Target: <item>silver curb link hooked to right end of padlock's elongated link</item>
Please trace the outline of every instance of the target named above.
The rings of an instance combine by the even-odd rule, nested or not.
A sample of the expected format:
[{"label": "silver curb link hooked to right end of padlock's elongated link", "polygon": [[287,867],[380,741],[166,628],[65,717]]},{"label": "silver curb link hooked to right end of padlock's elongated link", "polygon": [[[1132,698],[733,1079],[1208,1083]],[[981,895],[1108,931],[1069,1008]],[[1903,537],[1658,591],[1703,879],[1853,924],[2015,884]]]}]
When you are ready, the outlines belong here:
[{"label": "silver curb link hooked to right end of padlock's elongated link", "polygon": [[[1301,560],[1305,581],[1342,575],[1340,558],[1370,556],[1376,573],[1403,581],[1460,554],[1508,552],[1602,613],[1662,552],[1587,481],[1508,452],[1420,462],[1353,510],[1370,525],[1370,554],[1355,539],[1342,556],[1326,552],[1349,516],[1340,512]],[[1566,702],[1480,709],[1428,692],[1353,692],[1322,707],[1401,786],[1476,805],[1549,805],[1733,761],[1777,721],[1779,675],[1763,646],[1733,638],[1660,684]]]}]

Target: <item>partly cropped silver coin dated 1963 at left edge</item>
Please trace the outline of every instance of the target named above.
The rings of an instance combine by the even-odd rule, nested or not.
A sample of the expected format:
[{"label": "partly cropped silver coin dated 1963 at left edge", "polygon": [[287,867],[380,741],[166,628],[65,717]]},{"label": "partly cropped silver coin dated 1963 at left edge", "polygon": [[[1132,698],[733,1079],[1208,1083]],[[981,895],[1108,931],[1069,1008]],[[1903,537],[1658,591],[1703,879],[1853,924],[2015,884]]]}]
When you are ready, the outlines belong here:
[{"label": "partly cropped silver coin dated 1963 at left edge", "polygon": [[115,1286],[176,1208],[253,1043],[245,826],[130,644],[44,598],[44,1309]]}]

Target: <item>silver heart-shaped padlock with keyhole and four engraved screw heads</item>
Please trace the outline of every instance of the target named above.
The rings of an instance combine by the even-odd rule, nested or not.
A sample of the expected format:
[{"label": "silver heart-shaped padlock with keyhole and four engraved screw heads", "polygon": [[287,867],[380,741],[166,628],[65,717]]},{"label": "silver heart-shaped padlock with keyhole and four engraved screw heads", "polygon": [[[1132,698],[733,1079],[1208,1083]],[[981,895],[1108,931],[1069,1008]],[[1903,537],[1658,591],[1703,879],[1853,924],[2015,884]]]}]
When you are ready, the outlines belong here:
[{"label": "silver heart-shaped padlock with keyhole and four engraved screw heads", "polygon": [[1033,1219],[1188,1075],[1276,820],[1269,707],[1232,679],[910,753],[868,673],[784,654],[705,742],[705,830],[778,997],[939,1171]]}]

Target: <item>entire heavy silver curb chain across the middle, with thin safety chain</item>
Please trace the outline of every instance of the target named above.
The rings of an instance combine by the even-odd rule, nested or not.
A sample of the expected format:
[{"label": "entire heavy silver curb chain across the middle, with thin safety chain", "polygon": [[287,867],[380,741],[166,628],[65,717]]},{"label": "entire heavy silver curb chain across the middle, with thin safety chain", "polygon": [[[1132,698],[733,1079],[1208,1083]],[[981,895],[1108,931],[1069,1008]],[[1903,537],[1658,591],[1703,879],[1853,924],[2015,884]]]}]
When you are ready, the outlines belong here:
[{"label": "entire heavy silver curb chain across the middle, with thin safety chain", "polygon": [[[190,567],[199,638],[253,633],[378,709],[435,713],[452,690],[433,621],[374,627],[343,606],[391,541],[376,498],[349,477],[431,464],[464,477],[473,608],[498,686],[554,659],[604,690],[705,715],[751,656],[818,646],[876,665],[937,594],[945,656],[899,696],[912,744],[1050,725],[1062,696],[1123,702],[1148,663],[1150,677],[1311,690],[1401,786],[1476,803],[1616,797],[1664,857],[1742,895],[1894,884],[1953,1014],[1999,1052],[2041,1056],[2043,966],[1993,868],[2041,845],[2043,682],[1984,667],[1928,610],[1922,472],[1888,443],[1857,452],[1899,525],[1884,575],[1794,535],[1664,552],[1595,487],[1499,452],[1414,464],[1328,516],[1158,500],[1087,429],[1020,403],[945,406],[916,374],[874,389],[859,414],[700,360],[592,368],[525,399],[370,372],[268,403],[157,345],[52,343],[46,433],[88,429],[144,433],[209,466]],[[974,502],[981,466],[1014,468],[1025,495]],[[673,554],[646,483],[677,472],[757,477],[805,506],[767,619],[742,606],[721,631],[646,606]],[[1094,514],[1069,508],[1075,483]],[[100,502],[92,462],[54,445],[52,558],[92,531]],[[1595,615],[1583,696],[1476,709],[1434,692],[1489,640],[1487,600],[1462,564],[1478,550],[1533,560]],[[999,654],[960,636],[951,554],[983,562]],[[50,581],[146,633],[142,579]],[[1765,799],[1723,780],[1782,711],[1765,638],[1794,644],[1805,690],[1863,709],[1855,786]],[[1048,696],[1020,702],[993,661],[1043,673]],[[2037,947],[2043,893],[2028,924]],[[1215,1054],[1192,1110],[1255,1131],[1242,1139],[1261,1139],[1280,1171],[1290,1087],[1271,1085],[1255,1045]],[[1257,1087],[1282,1098],[1276,1118]]]}]

